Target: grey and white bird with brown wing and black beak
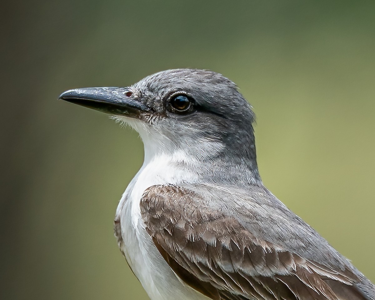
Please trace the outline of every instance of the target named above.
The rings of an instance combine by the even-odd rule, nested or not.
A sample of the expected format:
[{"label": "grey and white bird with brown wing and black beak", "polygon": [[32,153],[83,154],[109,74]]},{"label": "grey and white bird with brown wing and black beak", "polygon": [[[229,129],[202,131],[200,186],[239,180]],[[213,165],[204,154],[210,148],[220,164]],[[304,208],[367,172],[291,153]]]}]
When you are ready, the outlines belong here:
[{"label": "grey and white bird with brown wing and black beak", "polygon": [[151,300],[375,300],[371,281],[264,186],[255,114],[233,81],[172,69],[59,99],[142,139],[114,233]]}]

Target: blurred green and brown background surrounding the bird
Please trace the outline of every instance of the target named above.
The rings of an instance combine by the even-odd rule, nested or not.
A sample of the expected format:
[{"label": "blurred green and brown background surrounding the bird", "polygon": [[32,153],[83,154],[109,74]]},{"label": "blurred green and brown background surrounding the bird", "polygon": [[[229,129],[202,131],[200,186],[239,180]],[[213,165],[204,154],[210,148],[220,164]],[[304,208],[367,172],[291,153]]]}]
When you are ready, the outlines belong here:
[{"label": "blurred green and brown background surrounding the bird", "polygon": [[265,185],[375,281],[374,1],[1,10],[1,299],[147,299],[113,236],[141,141],[57,97],[187,67],[239,85]]}]

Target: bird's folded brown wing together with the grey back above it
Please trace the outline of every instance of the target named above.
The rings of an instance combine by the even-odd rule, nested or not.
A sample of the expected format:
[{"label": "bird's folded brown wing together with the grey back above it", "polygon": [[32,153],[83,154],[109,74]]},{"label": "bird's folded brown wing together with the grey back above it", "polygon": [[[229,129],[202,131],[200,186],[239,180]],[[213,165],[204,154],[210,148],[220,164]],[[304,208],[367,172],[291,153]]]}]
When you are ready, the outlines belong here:
[{"label": "bird's folded brown wing together with the grey back above it", "polygon": [[[264,194],[240,199],[230,189],[153,186],[142,196],[141,214],[174,273],[210,299],[369,299],[355,285],[361,281],[355,269],[313,229],[303,223],[302,238],[294,234],[301,219],[272,194],[257,206],[254,199]],[[300,250],[306,245],[308,257],[330,263],[307,259]]]}]

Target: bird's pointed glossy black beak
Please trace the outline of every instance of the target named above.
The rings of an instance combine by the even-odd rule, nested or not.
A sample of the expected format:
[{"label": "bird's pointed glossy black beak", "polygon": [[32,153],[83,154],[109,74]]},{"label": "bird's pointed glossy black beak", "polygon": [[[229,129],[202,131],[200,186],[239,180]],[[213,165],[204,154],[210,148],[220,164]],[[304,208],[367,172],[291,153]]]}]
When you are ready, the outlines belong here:
[{"label": "bird's pointed glossy black beak", "polygon": [[129,89],[122,87],[88,87],[68,90],[62,93],[58,99],[107,114],[127,117],[138,117],[142,112],[150,110],[135,99]]}]

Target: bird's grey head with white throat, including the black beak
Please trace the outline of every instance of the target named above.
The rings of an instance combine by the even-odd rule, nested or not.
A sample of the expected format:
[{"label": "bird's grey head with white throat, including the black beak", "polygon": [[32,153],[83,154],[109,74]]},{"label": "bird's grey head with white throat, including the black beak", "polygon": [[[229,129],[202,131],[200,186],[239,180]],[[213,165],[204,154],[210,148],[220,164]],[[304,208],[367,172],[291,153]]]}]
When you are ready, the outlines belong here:
[{"label": "bird's grey head with white throat, including the black beak", "polygon": [[229,155],[256,168],[254,113],[237,86],[221,74],[168,70],[129,87],[68,90],[59,99],[129,124],[144,142],[145,159],[156,153],[198,160]]}]

